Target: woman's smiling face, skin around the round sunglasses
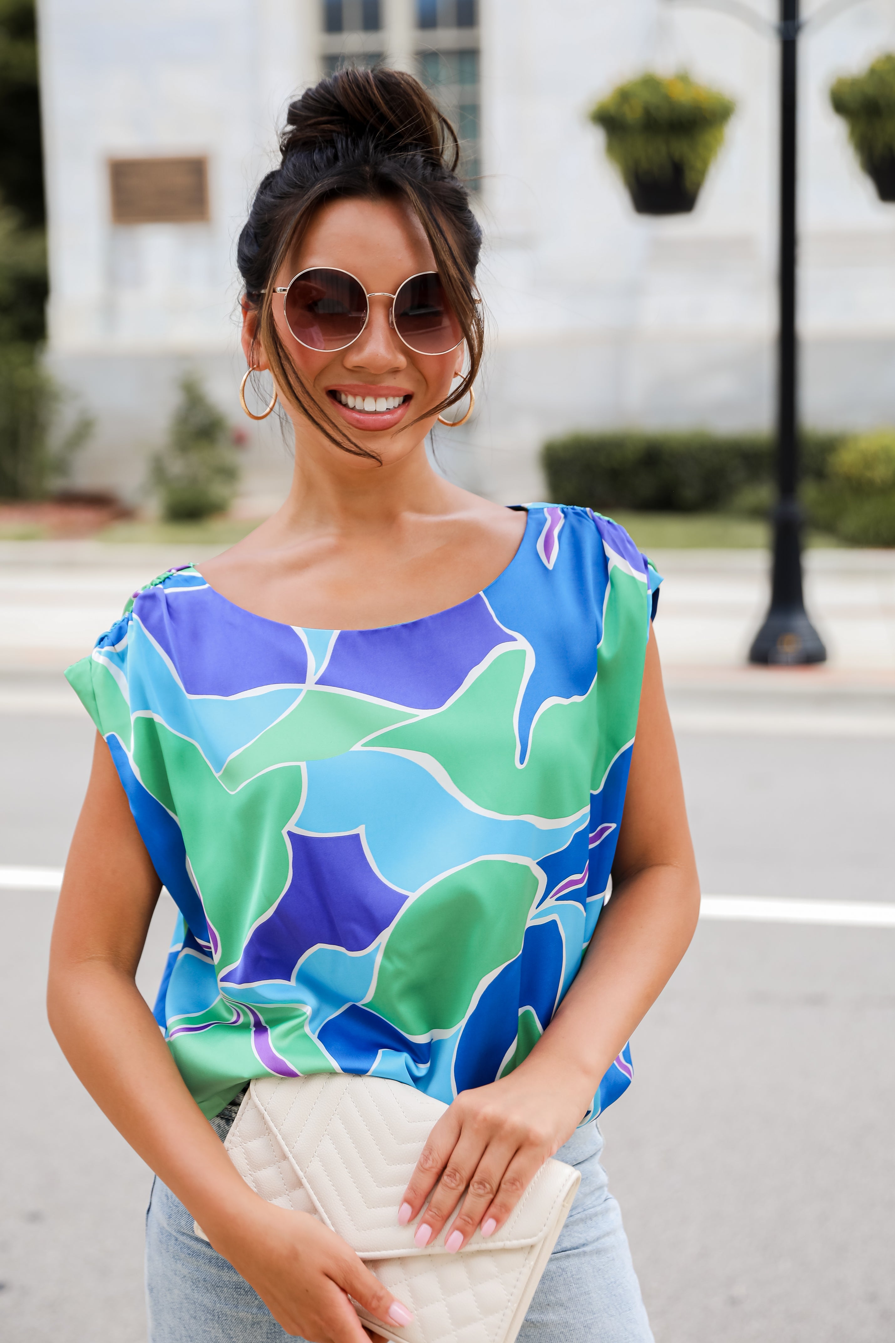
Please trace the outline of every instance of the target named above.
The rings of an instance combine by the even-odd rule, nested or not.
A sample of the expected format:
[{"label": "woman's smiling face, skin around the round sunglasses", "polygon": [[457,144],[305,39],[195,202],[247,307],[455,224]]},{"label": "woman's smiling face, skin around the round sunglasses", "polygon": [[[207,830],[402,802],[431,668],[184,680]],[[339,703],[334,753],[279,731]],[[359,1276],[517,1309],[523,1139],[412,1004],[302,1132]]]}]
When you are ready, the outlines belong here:
[{"label": "woman's smiling face, skin around the round sunglasses", "polygon": [[[288,285],[293,275],[315,266],[349,271],[376,297],[369,299],[366,326],[352,345],[318,352],[295,340],[286,324],[283,295],[276,294],[274,321],[287,357],[322,416],[362,447],[372,449],[384,465],[405,457],[435,423],[435,416],[424,412],[444,400],[463,365],[463,345],[447,355],[417,355],[389,325],[392,299],[384,295],[396,294],[411,275],[436,269],[428,239],[413,212],[400,201],[335,200],[314,215],[274,283]],[[246,357],[255,367],[267,368],[263,351],[259,346],[254,352],[250,349],[254,329],[254,314],[247,313],[243,325]],[[356,402],[353,408],[345,404],[349,396]],[[386,398],[389,407],[358,410],[358,398],[380,402]],[[403,434],[404,423],[420,415],[423,420],[409,434]],[[298,432],[314,432],[298,411],[293,418]],[[326,446],[338,451],[333,445]],[[376,467],[376,462],[366,458],[348,457],[348,461],[358,467]]]}]

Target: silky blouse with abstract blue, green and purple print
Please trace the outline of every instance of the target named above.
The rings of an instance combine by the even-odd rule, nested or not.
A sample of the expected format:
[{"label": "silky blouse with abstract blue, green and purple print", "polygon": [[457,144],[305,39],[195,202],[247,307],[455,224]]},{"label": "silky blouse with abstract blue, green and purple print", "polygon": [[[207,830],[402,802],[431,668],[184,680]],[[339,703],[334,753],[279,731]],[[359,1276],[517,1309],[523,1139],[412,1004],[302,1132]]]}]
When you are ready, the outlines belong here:
[{"label": "silky blouse with abstract blue, green and purple print", "polygon": [[[264,1074],[450,1103],[522,1062],[611,889],[657,583],[530,505],[436,615],[305,630],[185,567],[68,669],[180,909],[156,1014],[208,1116]],[[629,1080],[625,1049],[593,1109]]]}]

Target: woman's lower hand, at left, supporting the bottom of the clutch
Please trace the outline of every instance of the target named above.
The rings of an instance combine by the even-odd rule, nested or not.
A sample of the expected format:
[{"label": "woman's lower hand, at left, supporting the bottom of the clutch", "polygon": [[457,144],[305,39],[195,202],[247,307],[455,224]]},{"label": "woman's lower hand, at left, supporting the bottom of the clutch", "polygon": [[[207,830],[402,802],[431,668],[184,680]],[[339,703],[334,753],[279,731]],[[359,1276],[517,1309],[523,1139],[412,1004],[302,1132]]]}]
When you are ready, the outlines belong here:
[{"label": "woman's lower hand, at left, supporting the bottom of the clutch", "polygon": [[310,1213],[255,1202],[250,1209],[240,1202],[225,1229],[207,1228],[207,1234],[288,1335],[309,1343],[369,1343],[349,1296],[389,1328],[412,1323],[407,1305],[329,1226]]}]

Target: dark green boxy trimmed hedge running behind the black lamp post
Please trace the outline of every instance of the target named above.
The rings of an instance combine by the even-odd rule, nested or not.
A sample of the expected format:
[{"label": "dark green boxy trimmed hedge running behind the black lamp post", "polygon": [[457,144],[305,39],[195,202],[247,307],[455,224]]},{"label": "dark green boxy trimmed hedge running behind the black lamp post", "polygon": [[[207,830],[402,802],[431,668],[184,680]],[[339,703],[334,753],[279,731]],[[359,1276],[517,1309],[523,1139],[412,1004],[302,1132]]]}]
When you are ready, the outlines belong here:
[{"label": "dark green boxy trimmed hedge running behind the black lamp post", "polygon": [[[801,467],[823,479],[840,434],[805,432]],[[643,509],[765,513],[772,500],[774,445],[769,434],[615,430],[566,434],[542,450],[549,497],[598,512]]]}]

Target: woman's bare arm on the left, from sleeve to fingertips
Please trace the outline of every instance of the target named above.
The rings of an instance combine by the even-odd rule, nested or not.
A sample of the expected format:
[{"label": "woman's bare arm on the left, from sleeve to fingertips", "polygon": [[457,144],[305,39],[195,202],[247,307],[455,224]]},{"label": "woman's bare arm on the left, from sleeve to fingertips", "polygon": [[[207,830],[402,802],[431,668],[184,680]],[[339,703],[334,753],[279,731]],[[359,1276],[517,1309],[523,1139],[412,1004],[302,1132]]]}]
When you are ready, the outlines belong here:
[{"label": "woman's bare arm on the left, from sleeve to fingertips", "polygon": [[160,888],[98,737],[50,954],[47,1007],[66,1058],[287,1334],[368,1343],[349,1292],[378,1319],[408,1324],[407,1307],[345,1241],[244,1183],[189,1095],[134,982]]}]

